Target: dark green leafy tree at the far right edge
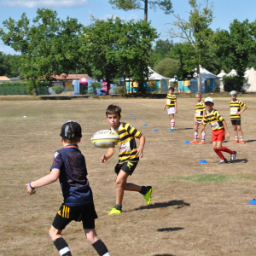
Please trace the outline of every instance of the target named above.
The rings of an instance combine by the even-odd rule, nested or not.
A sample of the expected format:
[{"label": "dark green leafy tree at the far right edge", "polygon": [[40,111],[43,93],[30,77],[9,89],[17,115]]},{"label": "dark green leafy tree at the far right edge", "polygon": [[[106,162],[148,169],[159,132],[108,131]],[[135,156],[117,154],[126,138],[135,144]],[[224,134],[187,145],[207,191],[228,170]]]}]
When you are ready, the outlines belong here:
[{"label": "dark green leafy tree at the far right edge", "polygon": [[[233,20],[230,32],[218,30],[215,42],[218,45],[217,55],[230,69],[236,69],[237,76],[232,79],[236,90],[241,90],[244,83],[244,73],[248,67],[251,55],[255,55],[255,33],[253,23]],[[230,82],[230,81],[228,81]],[[229,87],[230,88],[230,87]]]}]

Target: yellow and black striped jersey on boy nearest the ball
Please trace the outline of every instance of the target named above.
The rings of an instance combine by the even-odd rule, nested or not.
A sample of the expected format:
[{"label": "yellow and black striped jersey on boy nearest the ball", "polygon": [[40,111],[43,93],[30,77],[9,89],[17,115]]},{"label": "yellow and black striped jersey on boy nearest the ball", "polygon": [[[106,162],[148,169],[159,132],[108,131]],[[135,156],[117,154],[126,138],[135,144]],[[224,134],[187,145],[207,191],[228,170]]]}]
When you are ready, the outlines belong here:
[{"label": "yellow and black striped jersey on boy nearest the ball", "polygon": [[120,122],[119,128],[113,130],[119,134],[119,164],[124,162],[137,162],[139,157],[137,156],[137,145],[135,138],[140,138],[142,136],[140,131],[137,131],[132,125],[128,123]]}]

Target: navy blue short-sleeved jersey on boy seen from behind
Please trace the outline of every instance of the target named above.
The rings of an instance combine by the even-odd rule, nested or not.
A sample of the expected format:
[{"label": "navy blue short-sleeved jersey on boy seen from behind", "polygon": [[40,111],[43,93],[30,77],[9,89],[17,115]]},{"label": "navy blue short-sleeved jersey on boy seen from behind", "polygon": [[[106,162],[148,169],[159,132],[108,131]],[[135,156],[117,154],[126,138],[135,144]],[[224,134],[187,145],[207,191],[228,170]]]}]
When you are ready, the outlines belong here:
[{"label": "navy blue short-sleeved jersey on boy seen from behind", "polygon": [[77,145],[67,145],[55,151],[50,168],[59,169],[61,190],[67,207],[79,207],[93,203],[92,192],[87,179],[84,155]]}]

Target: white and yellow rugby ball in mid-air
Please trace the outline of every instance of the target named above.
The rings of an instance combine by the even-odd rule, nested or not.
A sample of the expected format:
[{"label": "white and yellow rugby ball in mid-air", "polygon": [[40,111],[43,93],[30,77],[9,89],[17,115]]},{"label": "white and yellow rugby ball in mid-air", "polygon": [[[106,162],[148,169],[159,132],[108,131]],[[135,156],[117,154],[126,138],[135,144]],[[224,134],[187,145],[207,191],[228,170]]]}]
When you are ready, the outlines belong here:
[{"label": "white and yellow rugby ball in mid-air", "polygon": [[97,131],[91,137],[91,143],[98,148],[113,148],[119,142],[119,135],[115,131]]}]

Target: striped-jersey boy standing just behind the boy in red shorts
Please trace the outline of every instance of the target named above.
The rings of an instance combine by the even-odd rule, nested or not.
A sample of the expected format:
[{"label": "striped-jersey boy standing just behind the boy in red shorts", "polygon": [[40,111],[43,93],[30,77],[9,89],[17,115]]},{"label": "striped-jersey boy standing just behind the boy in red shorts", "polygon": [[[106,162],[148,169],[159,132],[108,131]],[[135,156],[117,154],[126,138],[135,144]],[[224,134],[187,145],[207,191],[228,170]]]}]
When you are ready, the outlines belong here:
[{"label": "striped-jersey boy standing just behind the boy in red shorts", "polygon": [[201,142],[198,143],[197,136],[198,136],[198,126],[200,125],[200,128],[204,122],[205,115],[206,115],[206,106],[205,103],[201,100],[201,93],[197,92],[195,94],[195,99],[197,101],[197,104],[195,105],[195,126],[194,126],[194,131],[195,131],[195,138],[192,142],[190,143],[196,143],[196,144],[205,144],[205,137],[206,133],[203,132],[201,134]]}]

